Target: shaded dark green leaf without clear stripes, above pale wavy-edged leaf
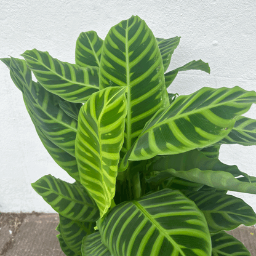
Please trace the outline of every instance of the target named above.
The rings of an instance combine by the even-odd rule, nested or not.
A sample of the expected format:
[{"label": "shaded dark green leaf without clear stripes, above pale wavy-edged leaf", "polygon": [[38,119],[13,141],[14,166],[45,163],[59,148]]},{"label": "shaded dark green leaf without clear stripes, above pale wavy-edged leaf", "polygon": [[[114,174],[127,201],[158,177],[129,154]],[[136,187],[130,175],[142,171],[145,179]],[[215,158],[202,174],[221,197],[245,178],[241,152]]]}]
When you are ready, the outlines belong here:
[{"label": "shaded dark green leaf without clear stripes, above pale wavy-edged leaf", "polygon": [[[222,170],[223,172],[228,172],[234,177],[239,177],[240,175],[246,177],[247,182],[249,182],[249,176],[241,172],[237,166],[228,166],[223,164],[218,159],[207,158],[204,153],[198,150],[191,150],[182,154],[175,154],[166,156],[164,158],[159,158],[157,161],[153,162],[149,167],[149,170],[162,171],[167,169],[175,170],[191,170],[198,168],[200,170]],[[197,182],[200,183],[200,180]]]}]

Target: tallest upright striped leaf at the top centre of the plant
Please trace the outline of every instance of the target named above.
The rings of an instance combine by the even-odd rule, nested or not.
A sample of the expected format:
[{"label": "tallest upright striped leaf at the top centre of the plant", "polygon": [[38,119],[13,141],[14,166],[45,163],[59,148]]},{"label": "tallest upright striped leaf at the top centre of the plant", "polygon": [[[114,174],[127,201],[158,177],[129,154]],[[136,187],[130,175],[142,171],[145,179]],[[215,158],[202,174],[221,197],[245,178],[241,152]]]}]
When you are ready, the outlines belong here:
[{"label": "tallest upright striped leaf at the top centre of the plant", "polygon": [[132,16],[107,34],[100,62],[100,89],[125,86],[127,116],[122,153],[165,103],[164,67],[158,43],[144,20]]}]

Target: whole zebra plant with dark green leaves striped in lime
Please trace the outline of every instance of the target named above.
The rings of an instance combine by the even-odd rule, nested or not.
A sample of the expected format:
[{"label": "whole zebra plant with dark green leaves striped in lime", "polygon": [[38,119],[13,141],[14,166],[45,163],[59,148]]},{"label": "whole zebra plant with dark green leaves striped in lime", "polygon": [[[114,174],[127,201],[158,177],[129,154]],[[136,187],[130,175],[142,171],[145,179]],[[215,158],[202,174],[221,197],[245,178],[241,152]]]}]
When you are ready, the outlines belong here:
[{"label": "whole zebra plant with dark green leaves striped in lime", "polygon": [[256,92],[169,93],[180,71],[210,73],[202,60],[166,72],[179,41],[131,17],[104,41],[81,33],[76,64],[36,49],[1,59],[46,150],[75,180],[32,183],[60,215],[66,255],[250,255],[225,231],[256,215],[226,192],[256,194],[256,178],[220,162],[218,150],[256,145],[256,121],[241,116]]}]

